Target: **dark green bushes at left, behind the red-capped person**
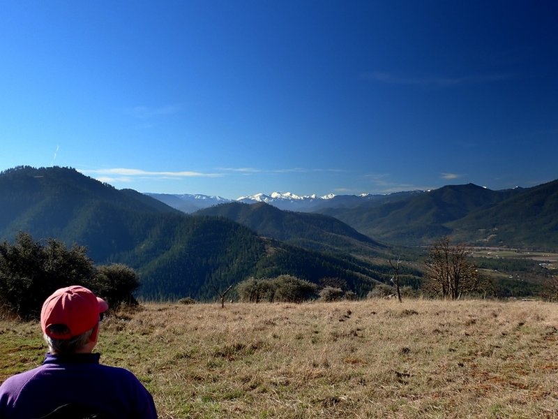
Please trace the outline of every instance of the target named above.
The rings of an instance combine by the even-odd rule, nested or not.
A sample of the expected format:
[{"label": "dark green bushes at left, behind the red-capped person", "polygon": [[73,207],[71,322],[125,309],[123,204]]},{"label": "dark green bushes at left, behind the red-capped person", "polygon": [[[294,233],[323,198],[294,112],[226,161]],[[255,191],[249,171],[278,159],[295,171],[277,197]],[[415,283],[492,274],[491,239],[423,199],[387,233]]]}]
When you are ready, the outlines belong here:
[{"label": "dark green bushes at left, behind the red-capped person", "polygon": [[38,318],[45,299],[70,285],[91,289],[115,308],[137,304],[133,292],[140,281],[126,265],[93,265],[82,246],[68,249],[58,240],[36,241],[29,233],[0,244],[0,314]]}]

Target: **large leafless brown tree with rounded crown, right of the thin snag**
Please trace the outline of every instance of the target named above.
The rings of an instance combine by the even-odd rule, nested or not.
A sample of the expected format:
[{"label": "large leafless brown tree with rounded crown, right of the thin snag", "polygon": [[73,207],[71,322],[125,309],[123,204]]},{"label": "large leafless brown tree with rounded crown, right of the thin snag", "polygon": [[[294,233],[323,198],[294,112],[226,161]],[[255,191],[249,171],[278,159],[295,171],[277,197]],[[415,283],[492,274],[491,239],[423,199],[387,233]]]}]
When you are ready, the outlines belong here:
[{"label": "large leafless brown tree with rounded crown, right of the thin snag", "polygon": [[432,291],[444,299],[458,300],[462,293],[485,291],[486,281],[467,256],[467,248],[450,244],[448,237],[430,247],[425,273]]}]

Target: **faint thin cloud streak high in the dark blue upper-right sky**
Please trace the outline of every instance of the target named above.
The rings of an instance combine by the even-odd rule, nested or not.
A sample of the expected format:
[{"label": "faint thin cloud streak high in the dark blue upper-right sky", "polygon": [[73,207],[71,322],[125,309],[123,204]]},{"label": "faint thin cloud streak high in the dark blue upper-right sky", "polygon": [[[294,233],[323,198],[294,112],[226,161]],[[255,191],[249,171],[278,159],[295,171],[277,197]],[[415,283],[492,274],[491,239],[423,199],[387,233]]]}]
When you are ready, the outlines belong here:
[{"label": "faint thin cloud streak high in the dark blue upper-right sky", "polygon": [[490,82],[499,82],[509,80],[513,77],[511,74],[484,74],[484,75],[465,75],[462,77],[409,77],[405,75],[395,75],[393,73],[384,73],[382,71],[372,71],[363,74],[363,78],[388,84],[409,84],[420,87],[452,87],[461,84],[483,84]]}]

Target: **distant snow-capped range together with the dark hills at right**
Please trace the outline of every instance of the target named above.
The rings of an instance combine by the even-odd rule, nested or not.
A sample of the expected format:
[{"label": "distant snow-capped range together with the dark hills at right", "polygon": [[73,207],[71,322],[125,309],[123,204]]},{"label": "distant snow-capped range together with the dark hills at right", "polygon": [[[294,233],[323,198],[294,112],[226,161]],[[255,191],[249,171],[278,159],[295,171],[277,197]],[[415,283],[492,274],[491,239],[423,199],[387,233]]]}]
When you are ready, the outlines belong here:
[{"label": "distant snow-capped range together with the dark hills at right", "polygon": [[[240,211],[236,204],[267,203],[280,210],[329,215],[374,240],[404,246],[430,244],[449,235],[455,241],[474,245],[558,249],[558,180],[503,191],[466,184],[388,195],[318,197],[259,193],[236,201],[166,197],[163,202],[176,209],[185,211],[183,203],[188,202],[190,211],[186,212],[197,208],[199,214],[225,216],[263,234],[269,234],[269,229],[241,216],[246,210]],[[206,210],[216,205],[217,210]],[[256,214],[252,212],[253,216]]]}]

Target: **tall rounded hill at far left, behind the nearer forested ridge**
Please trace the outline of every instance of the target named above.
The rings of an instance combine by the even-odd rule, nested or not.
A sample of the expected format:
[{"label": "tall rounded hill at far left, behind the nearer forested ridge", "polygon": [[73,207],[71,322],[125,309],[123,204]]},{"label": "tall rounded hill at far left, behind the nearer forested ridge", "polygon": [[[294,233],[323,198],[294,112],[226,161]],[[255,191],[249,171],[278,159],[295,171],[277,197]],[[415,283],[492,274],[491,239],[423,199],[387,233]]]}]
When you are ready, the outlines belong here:
[{"label": "tall rounded hill at far left, behind the nearer forested ridge", "polygon": [[135,191],[118,191],[70,168],[30,168],[0,174],[0,237],[18,231],[84,244],[107,260],[137,242],[146,214],[181,214]]}]

